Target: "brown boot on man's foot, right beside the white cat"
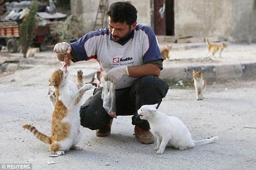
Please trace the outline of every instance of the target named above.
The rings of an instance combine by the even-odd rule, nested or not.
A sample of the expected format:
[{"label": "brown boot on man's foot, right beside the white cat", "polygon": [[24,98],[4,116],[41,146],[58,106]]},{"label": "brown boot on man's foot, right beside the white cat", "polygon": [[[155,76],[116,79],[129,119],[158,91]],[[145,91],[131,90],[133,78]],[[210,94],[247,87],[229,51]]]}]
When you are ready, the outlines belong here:
[{"label": "brown boot on man's foot, right beside the white cat", "polygon": [[154,135],[149,130],[144,130],[139,126],[134,127],[135,137],[139,139],[140,143],[152,144],[154,143]]}]

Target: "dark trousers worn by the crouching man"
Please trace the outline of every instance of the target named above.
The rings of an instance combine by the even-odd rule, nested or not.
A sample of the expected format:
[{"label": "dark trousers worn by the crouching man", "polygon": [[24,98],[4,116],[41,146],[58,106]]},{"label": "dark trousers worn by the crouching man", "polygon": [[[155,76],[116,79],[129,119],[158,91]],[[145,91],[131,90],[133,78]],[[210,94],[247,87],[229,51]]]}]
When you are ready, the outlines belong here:
[{"label": "dark trousers worn by the crouching man", "polygon": [[[140,119],[137,110],[142,105],[153,105],[158,107],[166,96],[169,87],[166,81],[157,76],[146,76],[137,79],[131,87],[116,90],[116,116],[132,116],[132,124],[145,130],[149,130],[149,123]],[[94,89],[91,96],[80,108],[81,125],[91,130],[106,126],[111,116],[102,107],[102,88]]]}]

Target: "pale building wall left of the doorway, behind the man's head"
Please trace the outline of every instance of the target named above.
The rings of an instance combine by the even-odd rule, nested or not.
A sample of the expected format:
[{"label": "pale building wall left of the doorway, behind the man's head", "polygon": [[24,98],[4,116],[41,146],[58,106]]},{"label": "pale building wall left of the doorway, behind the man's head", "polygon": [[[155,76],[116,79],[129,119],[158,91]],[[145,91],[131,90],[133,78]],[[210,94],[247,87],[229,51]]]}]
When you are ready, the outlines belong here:
[{"label": "pale building wall left of the doorway, behind the man's head", "polygon": [[[109,5],[117,1],[125,0],[108,0]],[[138,19],[137,22],[140,24],[148,25],[151,24],[151,8],[150,0],[130,0],[131,3],[137,8]],[[81,17],[82,32],[85,34],[93,30],[97,10],[99,7],[99,0],[71,0],[71,13],[77,14]],[[108,24],[108,22],[107,22]],[[106,24],[106,26],[107,26]]]}]

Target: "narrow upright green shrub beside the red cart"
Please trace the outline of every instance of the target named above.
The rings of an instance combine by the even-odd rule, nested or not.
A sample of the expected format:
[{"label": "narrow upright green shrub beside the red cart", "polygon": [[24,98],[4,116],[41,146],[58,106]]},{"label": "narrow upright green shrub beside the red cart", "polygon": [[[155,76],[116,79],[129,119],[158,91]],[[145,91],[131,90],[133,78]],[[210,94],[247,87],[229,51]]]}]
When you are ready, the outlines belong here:
[{"label": "narrow upright green shrub beside the red cart", "polygon": [[23,57],[26,57],[26,52],[32,45],[34,30],[36,28],[36,12],[38,6],[35,1],[29,9],[29,14],[23,19],[20,24],[19,34],[20,34],[20,46],[23,53]]}]

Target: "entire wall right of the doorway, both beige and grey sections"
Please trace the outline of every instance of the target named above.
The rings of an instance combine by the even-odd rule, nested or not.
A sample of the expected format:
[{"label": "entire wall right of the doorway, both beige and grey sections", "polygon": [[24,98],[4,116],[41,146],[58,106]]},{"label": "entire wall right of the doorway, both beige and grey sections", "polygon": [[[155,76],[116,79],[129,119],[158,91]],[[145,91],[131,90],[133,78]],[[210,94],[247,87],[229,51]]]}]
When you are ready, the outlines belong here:
[{"label": "entire wall right of the doorway, both beige and grey sections", "polygon": [[256,41],[256,1],[175,0],[175,35]]}]

